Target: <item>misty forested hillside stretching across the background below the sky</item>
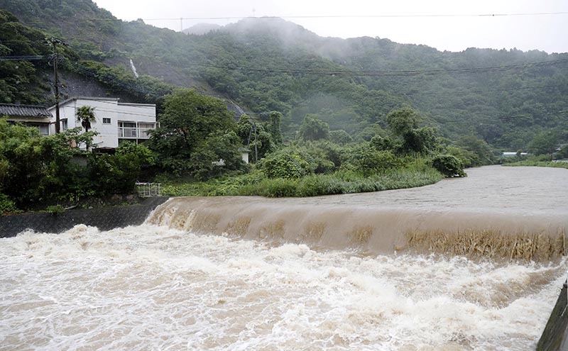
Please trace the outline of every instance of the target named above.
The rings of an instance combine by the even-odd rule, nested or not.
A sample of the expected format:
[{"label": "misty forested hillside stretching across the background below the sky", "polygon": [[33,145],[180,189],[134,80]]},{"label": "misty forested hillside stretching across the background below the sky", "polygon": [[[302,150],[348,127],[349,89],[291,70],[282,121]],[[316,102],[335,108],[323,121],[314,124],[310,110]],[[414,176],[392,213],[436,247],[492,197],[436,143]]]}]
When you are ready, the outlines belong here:
[{"label": "misty forested hillside stretching across the background below the sky", "polygon": [[[146,100],[170,89],[155,77],[231,99],[259,118],[280,111],[288,138],[315,113],[332,130],[368,140],[381,133],[389,111],[410,106],[451,139],[474,135],[510,150],[525,149],[544,131],[567,139],[566,53],[439,52],[380,38],[321,38],[275,18],[185,35],[119,21],[90,0],[0,0],[0,9],[70,43],[75,56],[67,55],[67,68],[77,74]],[[2,55],[16,55],[2,40]],[[147,76],[136,79],[129,60]],[[37,103],[38,92],[30,94],[19,99]]]}]

